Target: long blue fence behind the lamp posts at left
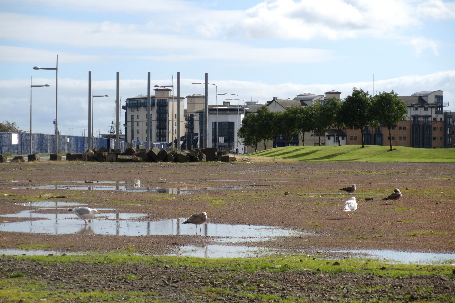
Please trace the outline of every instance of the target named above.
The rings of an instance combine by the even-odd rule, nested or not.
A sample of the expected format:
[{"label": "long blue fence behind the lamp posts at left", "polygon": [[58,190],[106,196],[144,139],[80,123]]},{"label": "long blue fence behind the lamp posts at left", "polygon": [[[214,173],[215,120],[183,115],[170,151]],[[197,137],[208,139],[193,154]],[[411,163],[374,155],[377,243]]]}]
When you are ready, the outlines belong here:
[{"label": "long blue fence behind the lamp posts at left", "polygon": [[[116,146],[116,139],[93,138],[93,146],[104,146],[108,150],[112,148],[120,148],[125,151],[127,143],[120,140],[120,146]],[[131,146],[136,147],[142,145],[147,148],[145,141],[133,141]],[[164,142],[152,142],[152,146],[157,146],[161,149],[168,149],[169,144]],[[61,153],[67,152],[86,152],[88,149],[88,137],[84,136],[58,136],[58,151]],[[32,134],[32,153],[39,154],[55,154],[56,138],[55,135],[49,134]],[[28,155],[30,154],[30,133],[11,133],[0,132],[0,155],[11,153],[12,155]]]}]

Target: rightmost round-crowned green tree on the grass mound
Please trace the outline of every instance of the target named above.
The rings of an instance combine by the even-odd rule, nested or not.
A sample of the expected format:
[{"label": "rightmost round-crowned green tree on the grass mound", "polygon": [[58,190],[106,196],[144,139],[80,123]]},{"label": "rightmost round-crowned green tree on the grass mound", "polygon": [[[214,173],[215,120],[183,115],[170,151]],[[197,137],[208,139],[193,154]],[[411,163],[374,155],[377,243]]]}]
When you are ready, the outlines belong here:
[{"label": "rightmost round-crowned green tree on the grass mound", "polygon": [[374,98],[372,107],[379,125],[387,126],[389,128],[390,151],[393,151],[390,131],[392,126],[405,118],[405,115],[408,112],[406,104],[394,91],[383,91]]}]

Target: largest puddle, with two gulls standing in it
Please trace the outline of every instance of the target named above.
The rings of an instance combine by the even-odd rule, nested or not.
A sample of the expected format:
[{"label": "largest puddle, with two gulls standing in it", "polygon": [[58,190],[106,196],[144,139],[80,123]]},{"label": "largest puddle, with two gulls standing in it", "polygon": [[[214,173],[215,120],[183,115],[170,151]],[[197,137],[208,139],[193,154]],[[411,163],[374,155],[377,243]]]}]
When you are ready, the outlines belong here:
[{"label": "largest puddle, with two gulls standing in it", "polygon": [[[42,202],[41,202],[42,203]],[[122,236],[148,235],[195,235],[196,226],[182,224],[186,218],[176,218],[159,221],[136,221],[144,219],[143,213],[116,213],[112,209],[98,209],[101,214],[90,220],[87,225],[76,215],[61,209],[61,213],[35,213],[31,210],[15,214],[1,215],[2,217],[21,217],[30,220],[22,222],[4,222],[0,231],[28,232],[49,234],[91,233]],[[202,225],[202,235],[214,237],[213,240],[226,242],[268,241],[274,237],[309,235],[303,232],[285,230],[281,227],[228,225],[205,223]]]}]

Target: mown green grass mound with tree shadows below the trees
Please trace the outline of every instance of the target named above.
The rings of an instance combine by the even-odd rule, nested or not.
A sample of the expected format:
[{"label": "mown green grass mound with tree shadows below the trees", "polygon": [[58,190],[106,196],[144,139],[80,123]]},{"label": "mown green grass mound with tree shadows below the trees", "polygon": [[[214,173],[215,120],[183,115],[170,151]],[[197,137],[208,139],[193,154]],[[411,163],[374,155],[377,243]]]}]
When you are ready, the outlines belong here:
[{"label": "mown green grass mound with tree shadows below the trees", "polygon": [[406,146],[360,145],[285,146],[253,152],[248,157],[294,159],[298,161],[369,161],[369,162],[455,162],[454,148],[414,148]]}]

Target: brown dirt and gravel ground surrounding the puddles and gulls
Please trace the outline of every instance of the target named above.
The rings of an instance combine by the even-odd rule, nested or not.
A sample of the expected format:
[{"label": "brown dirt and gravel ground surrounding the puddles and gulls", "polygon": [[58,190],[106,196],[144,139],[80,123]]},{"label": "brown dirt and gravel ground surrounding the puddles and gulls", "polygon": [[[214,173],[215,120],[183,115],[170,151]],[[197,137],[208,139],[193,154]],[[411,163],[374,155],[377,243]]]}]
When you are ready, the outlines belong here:
[{"label": "brown dirt and gravel ground surrounding the puddles and gulls", "polygon": [[[345,249],[454,253],[454,176],[455,165],[452,163],[6,163],[0,164],[0,214],[34,209],[23,206],[30,201],[65,196],[58,200],[79,202],[93,208],[112,207],[120,212],[149,214],[144,220],[189,217],[194,212],[205,211],[209,217],[207,224],[270,225],[311,233],[305,237],[241,243],[278,248],[293,254],[323,252],[324,255],[343,258],[343,254],[333,251]],[[135,178],[141,180],[142,187],[252,187],[200,190],[191,194],[35,189],[46,184],[75,185],[72,181],[126,181],[132,184]],[[18,182],[12,183],[11,180]],[[349,219],[341,209],[351,195],[339,191],[339,188],[354,183],[358,210],[354,219]],[[17,187],[29,188],[14,189]],[[403,193],[398,202],[381,200],[394,188]],[[365,198],[373,200],[366,201]],[[21,219],[0,217],[0,224],[18,220]],[[0,243],[3,249],[42,244],[61,252],[108,252],[132,247],[136,252],[166,254],[175,252],[177,247],[213,244],[214,239],[188,235],[140,237],[0,232]],[[0,257],[0,264],[0,276],[4,275],[3,271],[21,268],[28,277],[45,279],[49,287],[66,291],[79,289],[80,285],[66,283],[78,280],[84,284],[82,288],[89,290],[134,289],[153,292],[151,299],[173,302],[255,301],[243,295],[244,292],[311,301],[336,298],[438,301],[446,299],[447,295],[455,300],[454,278],[438,274],[410,278],[312,271],[233,274],[223,268],[210,273],[203,270],[188,273],[186,269],[187,272],[183,273],[184,268],[176,267],[137,265],[130,268],[128,265],[112,267],[100,264],[81,272],[77,271],[77,264],[56,264],[51,269],[42,270],[43,265],[39,262],[17,261],[5,256]],[[119,272],[147,278],[121,280],[118,279]],[[224,278],[216,278],[221,276]],[[359,290],[359,285],[362,285],[362,290]],[[207,287],[230,288],[233,293],[209,295],[199,292]],[[375,288],[381,290],[372,292],[371,289]]]}]

